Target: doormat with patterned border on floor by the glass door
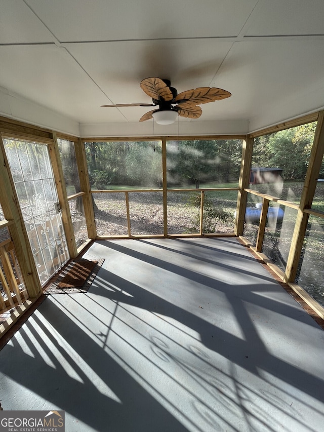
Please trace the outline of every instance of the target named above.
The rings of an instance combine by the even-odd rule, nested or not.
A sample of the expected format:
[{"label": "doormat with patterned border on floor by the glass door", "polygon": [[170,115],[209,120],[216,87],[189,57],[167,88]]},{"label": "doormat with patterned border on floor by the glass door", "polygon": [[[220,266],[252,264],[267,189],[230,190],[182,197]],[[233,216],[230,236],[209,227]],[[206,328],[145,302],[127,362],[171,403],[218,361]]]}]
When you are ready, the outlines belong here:
[{"label": "doormat with patterned border on floor by the glass door", "polygon": [[79,258],[69,261],[44,287],[44,294],[86,293],[104,260]]}]

